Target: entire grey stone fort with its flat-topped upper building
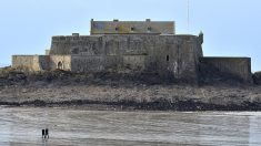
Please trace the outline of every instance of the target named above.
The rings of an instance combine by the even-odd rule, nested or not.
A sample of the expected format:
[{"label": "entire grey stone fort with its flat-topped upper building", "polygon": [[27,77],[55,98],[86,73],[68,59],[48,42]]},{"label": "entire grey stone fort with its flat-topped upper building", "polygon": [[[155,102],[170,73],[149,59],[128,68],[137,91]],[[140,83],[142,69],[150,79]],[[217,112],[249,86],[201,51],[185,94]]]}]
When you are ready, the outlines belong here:
[{"label": "entire grey stone fort with its flat-topped upper building", "polygon": [[203,33],[175,34],[173,21],[92,19],[90,27],[90,35],[52,36],[46,55],[13,55],[12,67],[32,72],[133,71],[197,82],[200,70],[210,66],[244,82],[252,80],[250,58],[203,56]]}]

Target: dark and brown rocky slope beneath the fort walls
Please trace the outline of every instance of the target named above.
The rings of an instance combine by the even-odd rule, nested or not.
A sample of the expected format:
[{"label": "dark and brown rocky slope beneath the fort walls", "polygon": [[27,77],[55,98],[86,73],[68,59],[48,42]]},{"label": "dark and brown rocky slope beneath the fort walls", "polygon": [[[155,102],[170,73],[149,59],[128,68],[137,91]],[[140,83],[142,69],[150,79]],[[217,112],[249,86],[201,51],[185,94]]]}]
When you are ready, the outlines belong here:
[{"label": "dark and brown rocky slope beneath the fort walls", "polygon": [[261,109],[261,86],[230,79],[189,85],[162,82],[147,74],[2,71],[0,105],[84,106],[94,109]]}]

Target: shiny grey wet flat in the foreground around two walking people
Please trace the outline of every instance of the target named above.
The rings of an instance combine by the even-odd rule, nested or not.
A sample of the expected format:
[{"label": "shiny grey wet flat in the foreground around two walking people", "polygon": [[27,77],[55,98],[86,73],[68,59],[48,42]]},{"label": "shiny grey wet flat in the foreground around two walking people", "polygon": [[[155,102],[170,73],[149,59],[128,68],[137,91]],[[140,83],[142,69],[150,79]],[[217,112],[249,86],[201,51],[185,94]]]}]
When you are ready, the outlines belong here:
[{"label": "shiny grey wet flat in the foreground around two walking people", "polygon": [[[0,146],[261,145],[261,112],[0,107]],[[41,138],[48,127],[50,138]]]}]

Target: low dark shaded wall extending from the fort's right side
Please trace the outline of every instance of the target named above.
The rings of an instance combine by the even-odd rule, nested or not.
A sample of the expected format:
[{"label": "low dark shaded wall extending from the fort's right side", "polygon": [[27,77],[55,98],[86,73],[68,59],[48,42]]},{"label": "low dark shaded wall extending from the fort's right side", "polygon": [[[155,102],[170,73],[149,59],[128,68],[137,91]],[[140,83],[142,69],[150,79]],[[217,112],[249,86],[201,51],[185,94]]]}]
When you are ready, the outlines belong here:
[{"label": "low dark shaded wall extending from the fort's right side", "polygon": [[221,73],[252,83],[250,58],[201,58],[200,61],[209,69],[214,67]]}]

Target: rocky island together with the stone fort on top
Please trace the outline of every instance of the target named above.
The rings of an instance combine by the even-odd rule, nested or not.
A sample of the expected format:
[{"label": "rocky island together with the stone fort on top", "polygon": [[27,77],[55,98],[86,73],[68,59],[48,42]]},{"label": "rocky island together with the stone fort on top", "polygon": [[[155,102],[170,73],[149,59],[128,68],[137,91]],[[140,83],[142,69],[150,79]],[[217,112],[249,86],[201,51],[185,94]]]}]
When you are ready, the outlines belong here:
[{"label": "rocky island together with the stone fort on top", "polygon": [[91,35],[53,36],[46,55],[13,55],[0,104],[98,109],[259,111],[250,58],[203,56],[172,21],[94,21]]}]

